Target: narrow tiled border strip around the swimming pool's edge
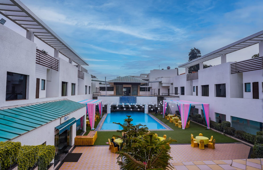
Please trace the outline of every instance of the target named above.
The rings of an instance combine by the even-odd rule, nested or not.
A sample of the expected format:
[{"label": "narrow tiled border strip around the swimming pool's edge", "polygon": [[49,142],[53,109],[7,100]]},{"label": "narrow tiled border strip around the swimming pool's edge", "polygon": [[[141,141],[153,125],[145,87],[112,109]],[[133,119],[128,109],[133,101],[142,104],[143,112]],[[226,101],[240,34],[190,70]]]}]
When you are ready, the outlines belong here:
[{"label": "narrow tiled border strip around the swimming pool's edge", "polygon": [[[110,114],[110,113],[109,113]],[[146,114],[146,113],[144,113]],[[116,132],[119,129],[113,129],[113,130],[102,130],[101,127],[107,117],[108,113],[105,113],[102,117],[102,119],[100,120],[98,126],[96,127],[95,131],[102,131],[102,132]],[[149,129],[151,131],[173,131],[172,128],[170,128],[169,126],[167,126],[165,123],[163,123],[162,121],[160,121],[158,118],[154,117],[152,114],[148,114],[148,116],[150,116],[151,118],[153,118],[156,122],[160,123],[165,129]]]}]

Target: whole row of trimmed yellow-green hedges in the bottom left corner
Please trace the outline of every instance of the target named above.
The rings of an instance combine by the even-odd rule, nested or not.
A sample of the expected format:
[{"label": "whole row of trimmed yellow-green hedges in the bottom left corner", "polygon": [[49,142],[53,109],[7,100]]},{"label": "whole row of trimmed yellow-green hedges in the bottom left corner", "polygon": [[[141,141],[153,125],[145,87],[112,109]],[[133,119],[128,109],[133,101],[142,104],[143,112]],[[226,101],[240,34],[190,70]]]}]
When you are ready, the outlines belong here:
[{"label": "whole row of trimmed yellow-green hedges in the bottom left corner", "polygon": [[0,169],[7,169],[18,163],[19,170],[38,165],[39,170],[47,169],[55,156],[55,146],[21,146],[20,142],[0,142]]}]

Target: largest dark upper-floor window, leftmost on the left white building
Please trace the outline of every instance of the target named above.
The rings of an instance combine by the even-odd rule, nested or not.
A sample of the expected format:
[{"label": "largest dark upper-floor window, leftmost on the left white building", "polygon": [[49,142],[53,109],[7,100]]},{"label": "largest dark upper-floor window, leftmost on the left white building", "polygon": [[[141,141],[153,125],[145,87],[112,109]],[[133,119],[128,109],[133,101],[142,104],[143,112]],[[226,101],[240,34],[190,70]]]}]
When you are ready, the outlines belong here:
[{"label": "largest dark upper-floor window, leftmost on the left white building", "polygon": [[27,75],[7,72],[6,100],[26,99]]}]

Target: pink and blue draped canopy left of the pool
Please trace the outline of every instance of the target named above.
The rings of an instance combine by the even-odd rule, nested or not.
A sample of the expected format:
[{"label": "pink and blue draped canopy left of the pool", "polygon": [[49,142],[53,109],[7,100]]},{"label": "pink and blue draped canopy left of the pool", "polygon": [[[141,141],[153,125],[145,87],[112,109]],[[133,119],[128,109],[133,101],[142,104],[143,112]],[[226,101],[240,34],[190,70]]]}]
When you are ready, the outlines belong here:
[{"label": "pink and blue draped canopy left of the pool", "polygon": [[99,107],[100,117],[102,117],[102,100],[89,99],[89,100],[79,101],[79,103],[86,105],[86,109],[87,109],[86,114],[88,113],[88,115],[89,115],[90,127],[93,130],[94,129],[94,123],[95,123],[96,104]]}]

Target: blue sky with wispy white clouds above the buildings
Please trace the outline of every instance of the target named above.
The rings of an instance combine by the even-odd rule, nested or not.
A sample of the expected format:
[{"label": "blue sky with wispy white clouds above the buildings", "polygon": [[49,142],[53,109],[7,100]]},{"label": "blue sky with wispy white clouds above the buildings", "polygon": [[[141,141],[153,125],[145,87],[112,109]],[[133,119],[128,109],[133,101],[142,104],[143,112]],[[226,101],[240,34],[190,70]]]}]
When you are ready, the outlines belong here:
[{"label": "blue sky with wispy white clouds above the buildings", "polygon": [[175,68],[193,47],[204,55],[263,29],[262,0],[21,1],[102,80]]}]

